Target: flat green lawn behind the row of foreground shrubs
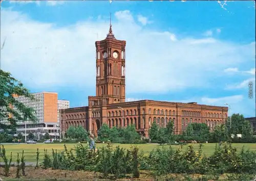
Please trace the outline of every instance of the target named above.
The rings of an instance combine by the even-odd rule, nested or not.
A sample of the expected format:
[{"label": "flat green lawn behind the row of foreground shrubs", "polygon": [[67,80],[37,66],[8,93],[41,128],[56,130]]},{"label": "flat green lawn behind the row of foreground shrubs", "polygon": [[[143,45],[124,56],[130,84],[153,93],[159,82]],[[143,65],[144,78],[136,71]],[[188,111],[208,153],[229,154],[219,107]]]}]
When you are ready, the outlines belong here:
[{"label": "flat green lawn behind the row of foreground shrubs", "polygon": [[[25,152],[25,160],[26,162],[36,162],[36,148],[39,148],[39,161],[41,162],[43,157],[44,157],[44,149],[47,149],[50,153],[52,148],[55,150],[64,150],[64,144],[6,144],[4,145],[5,149],[6,149],[6,154],[8,159],[10,158],[10,154],[12,152],[12,160],[13,162],[16,162],[16,157],[17,157],[17,152],[19,152],[19,154],[22,153],[22,150],[24,150]],[[76,144],[66,144],[68,149],[74,148]],[[85,146],[86,144],[84,144]],[[199,144],[192,144],[194,146],[195,149],[199,148]],[[106,146],[106,144],[102,144],[102,143],[98,143],[97,148],[102,147],[102,146]],[[113,144],[113,147],[116,146],[120,146],[126,149],[131,148],[131,146],[133,146],[133,144]],[[158,144],[136,144],[136,146],[139,147],[139,150],[143,150],[143,152],[145,154],[148,154],[151,150],[153,150],[154,148],[157,147],[162,147]],[[165,145],[165,147],[168,147],[168,145]],[[208,144],[203,144],[203,153],[206,154],[206,156],[209,156],[210,154],[212,154],[212,152],[214,152],[216,144],[215,143],[208,143]],[[238,149],[238,151],[240,151],[242,149],[242,147],[244,146],[244,148],[250,149],[250,150],[256,150],[256,144],[255,143],[233,143],[232,144],[233,147],[236,147]],[[1,146],[2,147],[2,146]],[[177,149],[179,146],[178,145],[172,145],[172,147],[174,149]],[[187,148],[187,145],[184,146],[184,150]]]}]

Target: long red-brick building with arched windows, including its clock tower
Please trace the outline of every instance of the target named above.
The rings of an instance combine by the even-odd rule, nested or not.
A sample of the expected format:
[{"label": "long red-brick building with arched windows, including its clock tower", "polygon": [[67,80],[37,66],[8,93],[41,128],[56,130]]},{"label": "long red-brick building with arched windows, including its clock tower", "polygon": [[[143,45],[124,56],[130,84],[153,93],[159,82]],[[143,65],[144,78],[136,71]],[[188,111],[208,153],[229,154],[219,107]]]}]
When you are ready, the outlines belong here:
[{"label": "long red-brick building with arched windows, including its clock tower", "polygon": [[134,124],[137,131],[148,137],[148,131],[156,121],[159,127],[173,121],[175,133],[182,133],[192,122],[206,123],[213,130],[227,119],[228,108],[155,100],[125,102],[125,45],[117,40],[110,26],[109,34],[96,41],[96,96],[89,96],[88,107],[61,111],[61,131],[70,126],[83,126],[97,136],[103,123],[110,127]]}]

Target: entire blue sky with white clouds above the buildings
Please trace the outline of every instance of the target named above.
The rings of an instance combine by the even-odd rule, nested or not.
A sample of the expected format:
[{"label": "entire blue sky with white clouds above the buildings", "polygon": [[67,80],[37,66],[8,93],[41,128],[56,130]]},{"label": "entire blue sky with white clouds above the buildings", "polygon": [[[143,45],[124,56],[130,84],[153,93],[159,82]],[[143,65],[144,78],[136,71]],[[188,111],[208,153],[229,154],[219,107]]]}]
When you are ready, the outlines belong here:
[{"label": "entire blue sky with white clouds above the buildings", "polygon": [[1,68],[31,92],[72,107],[95,95],[95,41],[109,13],[126,40],[126,97],[223,106],[255,116],[253,1],[44,1],[1,3]]}]

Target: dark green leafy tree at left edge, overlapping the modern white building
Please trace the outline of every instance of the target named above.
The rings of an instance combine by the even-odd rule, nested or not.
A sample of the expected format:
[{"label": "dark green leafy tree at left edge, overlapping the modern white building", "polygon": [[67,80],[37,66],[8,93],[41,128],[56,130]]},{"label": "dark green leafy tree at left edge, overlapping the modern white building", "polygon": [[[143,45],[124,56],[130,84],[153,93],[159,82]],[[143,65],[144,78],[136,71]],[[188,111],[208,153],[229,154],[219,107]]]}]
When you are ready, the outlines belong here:
[{"label": "dark green leafy tree at left edge, overlapping the modern white building", "polygon": [[35,111],[16,100],[14,95],[35,99],[21,82],[11,76],[11,73],[0,70],[0,120],[8,120],[10,123],[0,122],[3,130],[16,130],[17,121],[37,120]]}]

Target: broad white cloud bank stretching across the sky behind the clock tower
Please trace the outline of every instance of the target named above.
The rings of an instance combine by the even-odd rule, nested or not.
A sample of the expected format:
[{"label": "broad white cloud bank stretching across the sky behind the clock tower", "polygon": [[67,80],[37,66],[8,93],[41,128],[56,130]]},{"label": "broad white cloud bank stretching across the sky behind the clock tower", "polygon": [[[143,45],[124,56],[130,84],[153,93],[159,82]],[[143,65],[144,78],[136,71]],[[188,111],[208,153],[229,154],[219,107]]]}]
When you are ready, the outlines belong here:
[{"label": "broad white cloud bank stretching across the sky behind the clock tower", "polygon": [[[209,79],[223,69],[251,62],[255,55],[255,43],[240,45],[191,35],[170,41],[173,33],[142,28],[130,11],[116,12],[115,17],[115,37],[126,40],[126,93],[210,87]],[[1,45],[7,38],[1,68],[32,87],[95,89],[95,41],[104,39],[108,30],[109,23],[101,19],[58,28],[2,10]]]}]

